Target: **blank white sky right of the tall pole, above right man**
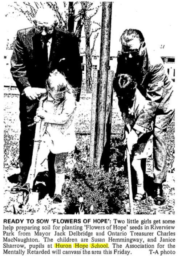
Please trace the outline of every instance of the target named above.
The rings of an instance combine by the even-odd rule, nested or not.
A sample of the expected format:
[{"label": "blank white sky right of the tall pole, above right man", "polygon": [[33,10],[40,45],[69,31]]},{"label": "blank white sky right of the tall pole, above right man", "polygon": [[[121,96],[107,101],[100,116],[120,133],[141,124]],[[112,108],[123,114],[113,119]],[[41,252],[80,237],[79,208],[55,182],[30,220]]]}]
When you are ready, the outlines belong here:
[{"label": "blank white sky right of the tall pole, above right man", "polygon": [[176,1],[128,1],[113,3],[111,52],[120,44],[120,36],[126,28],[136,28],[145,37],[147,47],[158,49],[165,44],[168,52],[174,52],[177,24]]}]

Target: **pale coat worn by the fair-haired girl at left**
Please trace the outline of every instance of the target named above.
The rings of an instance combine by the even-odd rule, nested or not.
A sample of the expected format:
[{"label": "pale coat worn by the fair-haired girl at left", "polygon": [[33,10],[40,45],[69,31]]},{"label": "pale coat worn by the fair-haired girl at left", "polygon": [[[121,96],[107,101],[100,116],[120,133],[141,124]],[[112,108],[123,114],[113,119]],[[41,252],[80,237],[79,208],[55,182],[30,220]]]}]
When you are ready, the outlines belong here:
[{"label": "pale coat worn by the fair-haired girl at left", "polygon": [[76,146],[74,112],[76,101],[73,93],[66,92],[65,100],[43,103],[46,117],[41,124],[41,141],[45,142],[53,154],[71,152]]}]

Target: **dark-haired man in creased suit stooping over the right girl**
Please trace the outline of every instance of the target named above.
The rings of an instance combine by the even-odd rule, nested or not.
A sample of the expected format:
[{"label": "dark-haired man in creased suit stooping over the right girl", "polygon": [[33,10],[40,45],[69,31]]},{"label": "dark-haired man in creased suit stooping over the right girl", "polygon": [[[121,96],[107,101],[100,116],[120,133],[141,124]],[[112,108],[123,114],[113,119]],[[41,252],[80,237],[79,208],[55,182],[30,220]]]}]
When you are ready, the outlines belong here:
[{"label": "dark-haired man in creased suit stooping over the right girl", "polygon": [[[146,133],[154,120],[154,203],[165,202],[162,183],[166,179],[166,130],[174,116],[173,82],[167,75],[162,59],[147,52],[145,39],[139,30],[125,30],[121,36],[122,52],[118,54],[116,77],[130,74],[137,82],[137,88],[148,101],[127,138],[131,153],[138,138]],[[117,79],[115,79],[117,81]],[[114,84],[117,86],[117,84]]]}]

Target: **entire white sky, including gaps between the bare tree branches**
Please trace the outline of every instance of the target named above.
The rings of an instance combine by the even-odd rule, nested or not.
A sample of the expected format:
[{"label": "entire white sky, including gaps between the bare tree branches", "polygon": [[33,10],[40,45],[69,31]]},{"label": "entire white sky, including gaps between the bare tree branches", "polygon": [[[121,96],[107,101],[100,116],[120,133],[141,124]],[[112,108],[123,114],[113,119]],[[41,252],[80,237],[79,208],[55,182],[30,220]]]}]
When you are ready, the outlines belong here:
[{"label": "entire white sky, including gaps between the bare tree branches", "polygon": [[[22,1],[17,1],[20,3]],[[60,1],[61,2],[61,1]],[[32,3],[32,1],[31,1]],[[95,1],[99,3],[99,1]],[[6,1],[3,7],[5,15],[5,43],[7,39],[11,42],[17,30],[31,27],[31,23],[23,14],[19,15],[12,7],[13,1]],[[8,15],[7,15],[8,14]],[[93,21],[101,22],[101,10],[94,16]],[[121,49],[120,36],[126,28],[136,28],[142,31],[147,47],[153,50],[160,49],[161,44],[165,45],[163,51],[173,56],[176,42],[176,16],[177,7],[175,0],[117,0],[112,4],[112,28],[110,55],[116,56]],[[83,32],[84,33],[84,32]],[[84,34],[82,34],[84,35]],[[81,48],[84,48],[84,38]],[[96,41],[95,53],[100,53],[100,35]]]}]

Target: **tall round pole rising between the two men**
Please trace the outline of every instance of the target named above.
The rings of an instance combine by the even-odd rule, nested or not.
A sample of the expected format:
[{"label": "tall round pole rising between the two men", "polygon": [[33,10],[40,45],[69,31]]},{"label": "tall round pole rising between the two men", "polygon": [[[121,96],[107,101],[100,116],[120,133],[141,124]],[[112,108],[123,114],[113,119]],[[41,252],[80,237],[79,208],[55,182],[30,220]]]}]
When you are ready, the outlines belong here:
[{"label": "tall round pole rising between the two men", "polygon": [[100,50],[100,86],[98,95],[97,145],[96,159],[100,167],[105,142],[106,95],[110,57],[112,2],[102,3],[101,50]]}]

